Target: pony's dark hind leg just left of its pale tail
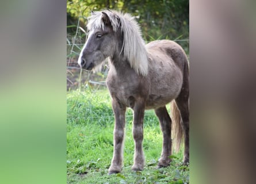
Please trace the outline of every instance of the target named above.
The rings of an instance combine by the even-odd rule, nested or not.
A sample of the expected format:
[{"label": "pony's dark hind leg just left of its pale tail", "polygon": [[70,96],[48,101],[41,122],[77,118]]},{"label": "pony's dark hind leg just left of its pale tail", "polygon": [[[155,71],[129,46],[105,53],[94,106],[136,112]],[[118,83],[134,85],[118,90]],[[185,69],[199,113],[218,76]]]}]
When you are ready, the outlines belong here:
[{"label": "pony's dark hind leg just left of its pale tail", "polygon": [[158,167],[169,166],[171,159],[171,118],[165,106],[155,109],[155,114],[158,117],[163,133],[163,147],[161,158],[158,162]]}]

